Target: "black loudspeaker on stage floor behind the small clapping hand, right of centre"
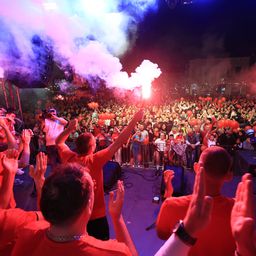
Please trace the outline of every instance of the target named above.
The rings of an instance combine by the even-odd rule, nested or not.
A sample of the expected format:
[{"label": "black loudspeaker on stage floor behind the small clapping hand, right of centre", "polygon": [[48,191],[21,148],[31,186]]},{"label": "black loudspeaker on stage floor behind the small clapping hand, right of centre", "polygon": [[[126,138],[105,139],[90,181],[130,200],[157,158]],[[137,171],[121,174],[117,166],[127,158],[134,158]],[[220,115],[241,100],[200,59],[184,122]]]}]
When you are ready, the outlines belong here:
[{"label": "black loudspeaker on stage floor behind the small clapping hand, right of centre", "polygon": [[[185,178],[184,178],[184,168],[182,166],[174,166],[174,165],[166,165],[164,170],[173,170],[174,178],[172,180],[173,186],[173,195],[174,196],[182,196],[185,191]],[[165,183],[164,176],[162,175],[161,182],[161,194],[164,195]]]}]

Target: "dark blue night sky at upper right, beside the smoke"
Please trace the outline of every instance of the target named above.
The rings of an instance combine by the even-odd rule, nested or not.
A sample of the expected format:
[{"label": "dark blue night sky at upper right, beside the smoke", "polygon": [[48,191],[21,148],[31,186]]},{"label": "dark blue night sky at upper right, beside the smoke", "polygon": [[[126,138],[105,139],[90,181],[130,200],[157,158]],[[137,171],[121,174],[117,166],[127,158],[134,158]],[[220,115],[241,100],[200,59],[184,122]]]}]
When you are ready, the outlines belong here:
[{"label": "dark blue night sky at upper right, beside the smoke", "polygon": [[194,0],[148,13],[135,46],[122,59],[127,71],[150,59],[165,71],[182,71],[189,59],[256,54],[256,0]]}]

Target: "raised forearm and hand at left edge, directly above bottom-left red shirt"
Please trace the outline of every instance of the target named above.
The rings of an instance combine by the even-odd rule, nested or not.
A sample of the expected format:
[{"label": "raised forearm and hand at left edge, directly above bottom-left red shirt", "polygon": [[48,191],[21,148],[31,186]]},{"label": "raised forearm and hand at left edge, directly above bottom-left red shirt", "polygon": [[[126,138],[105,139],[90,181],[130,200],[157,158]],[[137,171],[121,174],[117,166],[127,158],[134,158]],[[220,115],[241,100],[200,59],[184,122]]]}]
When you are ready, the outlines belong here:
[{"label": "raised forearm and hand at left edge, directly above bottom-left red shirt", "polygon": [[3,181],[0,186],[0,209],[7,209],[10,206],[13,197],[14,178],[18,169],[18,151],[16,149],[8,149],[1,156],[3,166]]}]

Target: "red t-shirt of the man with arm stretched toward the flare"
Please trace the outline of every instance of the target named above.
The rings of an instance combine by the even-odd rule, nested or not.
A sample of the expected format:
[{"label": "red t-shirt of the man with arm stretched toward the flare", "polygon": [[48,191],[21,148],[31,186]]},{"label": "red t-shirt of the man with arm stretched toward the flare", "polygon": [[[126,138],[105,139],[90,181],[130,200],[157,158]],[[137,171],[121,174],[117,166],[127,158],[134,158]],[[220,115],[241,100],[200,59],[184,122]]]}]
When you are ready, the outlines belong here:
[{"label": "red t-shirt of the man with arm stretched toward the flare", "polygon": [[103,166],[112,158],[108,148],[87,156],[79,156],[71,151],[67,145],[58,146],[62,163],[79,163],[90,170],[90,175],[96,183],[94,190],[94,206],[91,220],[106,216],[106,207],[103,188]]}]

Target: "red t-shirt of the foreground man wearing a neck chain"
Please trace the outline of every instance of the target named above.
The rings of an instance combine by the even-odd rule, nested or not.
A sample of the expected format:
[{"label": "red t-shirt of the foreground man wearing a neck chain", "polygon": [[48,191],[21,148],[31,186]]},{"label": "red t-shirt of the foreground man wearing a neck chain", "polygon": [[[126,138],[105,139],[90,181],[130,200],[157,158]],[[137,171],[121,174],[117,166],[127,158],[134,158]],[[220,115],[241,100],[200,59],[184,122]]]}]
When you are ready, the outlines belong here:
[{"label": "red t-shirt of the foreground man wearing a neck chain", "polygon": [[124,243],[116,240],[101,241],[85,236],[77,241],[58,243],[46,235],[45,225],[34,222],[20,232],[12,256],[130,256]]}]

